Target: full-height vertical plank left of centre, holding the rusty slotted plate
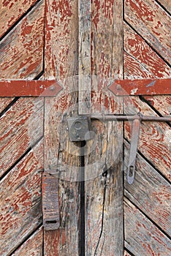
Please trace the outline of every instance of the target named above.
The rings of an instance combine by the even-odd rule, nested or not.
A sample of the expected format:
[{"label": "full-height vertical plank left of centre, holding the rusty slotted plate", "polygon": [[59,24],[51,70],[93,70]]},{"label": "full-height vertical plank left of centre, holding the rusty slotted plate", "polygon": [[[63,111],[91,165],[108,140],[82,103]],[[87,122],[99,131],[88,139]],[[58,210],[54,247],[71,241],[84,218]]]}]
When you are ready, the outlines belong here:
[{"label": "full-height vertical plank left of centre, holding the rusty slotted plate", "polygon": [[[44,255],[79,255],[79,183],[72,168],[80,157],[69,143],[64,113],[77,112],[78,4],[47,0],[45,5],[45,78],[63,86],[57,97],[45,99],[45,171],[61,170],[58,178],[60,227],[44,232]],[[76,149],[77,151],[77,149]],[[80,151],[80,148],[79,148]]]}]

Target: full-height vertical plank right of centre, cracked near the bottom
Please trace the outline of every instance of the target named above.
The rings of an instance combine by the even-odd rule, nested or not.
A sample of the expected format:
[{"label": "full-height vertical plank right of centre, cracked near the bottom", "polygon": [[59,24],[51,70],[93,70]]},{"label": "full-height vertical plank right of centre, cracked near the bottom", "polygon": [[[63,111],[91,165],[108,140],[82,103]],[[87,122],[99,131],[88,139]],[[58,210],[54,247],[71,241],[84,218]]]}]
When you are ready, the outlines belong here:
[{"label": "full-height vertical plank right of centre, cracked near the bottom", "polygon": [[[91,113],[122,113],[122,100],[107,90],[123,75],[122,9],[119,0],[91,3]],[[122,123],[96,120],[91,129],[94,138],[85,148],[86,255],[123,255]]]}]

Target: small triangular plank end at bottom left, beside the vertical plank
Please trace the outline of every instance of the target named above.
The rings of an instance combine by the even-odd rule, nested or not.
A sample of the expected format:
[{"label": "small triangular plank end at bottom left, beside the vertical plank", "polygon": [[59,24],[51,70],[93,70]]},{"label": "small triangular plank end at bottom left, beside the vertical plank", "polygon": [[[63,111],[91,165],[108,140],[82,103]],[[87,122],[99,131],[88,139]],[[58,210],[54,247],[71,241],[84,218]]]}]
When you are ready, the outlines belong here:
[{"label": "small triangular plank end at bottom left, beside the vertical plank", "polygon": [[12,256],[42,256],[43,230],[39,228]]}]

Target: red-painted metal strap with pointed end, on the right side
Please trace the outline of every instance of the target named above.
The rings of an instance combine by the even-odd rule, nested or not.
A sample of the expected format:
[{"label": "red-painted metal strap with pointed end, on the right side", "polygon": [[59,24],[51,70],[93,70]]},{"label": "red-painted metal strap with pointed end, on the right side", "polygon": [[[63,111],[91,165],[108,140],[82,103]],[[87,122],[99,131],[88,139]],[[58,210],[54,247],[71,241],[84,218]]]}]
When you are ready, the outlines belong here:
[{"label": "red-painted metal strap with pointed end, on the right side", "polygon": [[115,80],[108,87],[115,95],[168,95],[171,79]]}]

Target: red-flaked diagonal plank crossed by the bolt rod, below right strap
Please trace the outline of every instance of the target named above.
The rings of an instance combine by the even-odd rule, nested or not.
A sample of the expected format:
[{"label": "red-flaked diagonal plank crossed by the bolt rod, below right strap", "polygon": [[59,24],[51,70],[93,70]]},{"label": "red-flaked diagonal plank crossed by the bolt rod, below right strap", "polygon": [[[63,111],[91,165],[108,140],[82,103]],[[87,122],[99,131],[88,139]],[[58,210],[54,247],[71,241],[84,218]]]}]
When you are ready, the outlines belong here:
[{"label": "red-flaked diagonal plank crossed by the bolt rod, below right strap", "polygon": [[[157,116],[145,102],[137,97],[125,97],[124,105],[126,115],[140,112],[146,116]],[[130,125],[131,123],[125,123],[127,140],[130,140]],[[170,180],[170,126],[163,122],[142,122],[139,150],[157,170]]]}]

